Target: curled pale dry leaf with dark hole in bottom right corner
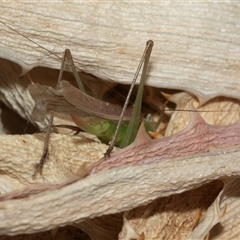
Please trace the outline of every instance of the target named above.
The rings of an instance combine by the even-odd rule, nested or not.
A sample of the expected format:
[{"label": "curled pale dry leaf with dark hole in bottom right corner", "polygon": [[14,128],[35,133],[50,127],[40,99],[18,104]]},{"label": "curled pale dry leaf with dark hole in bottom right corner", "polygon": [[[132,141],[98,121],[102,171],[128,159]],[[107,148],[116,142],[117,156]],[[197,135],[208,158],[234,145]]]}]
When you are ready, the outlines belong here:
[{"label": "curled pale dry leaf with dark hole in bottom right corner", "polygon": [[225,180],[225,185],[205,218],[188,236],[188,239],[238,239],[239,237],[239,178]]}]

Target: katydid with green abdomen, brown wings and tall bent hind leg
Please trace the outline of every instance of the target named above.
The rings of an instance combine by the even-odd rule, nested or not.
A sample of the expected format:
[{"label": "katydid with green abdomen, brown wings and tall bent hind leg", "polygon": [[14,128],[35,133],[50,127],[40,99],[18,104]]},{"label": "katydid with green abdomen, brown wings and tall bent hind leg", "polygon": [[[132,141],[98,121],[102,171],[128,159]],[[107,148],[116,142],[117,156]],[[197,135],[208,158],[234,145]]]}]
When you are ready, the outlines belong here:
[{"label": "katydid with green abdomen, brown wings and tall bent hind leg", "polygon": [[[65,50],[58,77],[57,90],[39,85],[31,85],[29,88],[29,92],[35,100],[35,108],[32,113],[34,120],[39,120],[39,116],[37,115],[38,110],[42,110],[43,108],[46,112],[50,111],[68,114],[71,115],[73,121],[82,130],[96,135],[101,141],[105,143],[109,143],[111,141],[106,152],[107,156],[110,155],[114,145],[121,148],[126,147],[135,139],[140,124],[142,94],[152,47],[153,41],[149,40],[147,42],[146,49],[143,53],[137,71],[134,75],[132,85],[130,87],[123,108],[118,105],[97,100],[87,95],[84,92],[84,87],[77,74],[71,53],[69,50]],[[66,60],[68,60],[70,63],[79,89],[73,87],[66,81],[62,81],[62,75]],[[133,110],[131,111],[127,109],[127,105],[143,63],[144,66],[140,85]],[[36,166],[35,174],[38,171],[42,171],[42,167],[48,155],[48,143],[52,120],[53,115],[51,114],[49,125],[50,127],[48,128],[46,134],[43,155],[39,164]],[[128,121],[129,123],[127,124]]]}]

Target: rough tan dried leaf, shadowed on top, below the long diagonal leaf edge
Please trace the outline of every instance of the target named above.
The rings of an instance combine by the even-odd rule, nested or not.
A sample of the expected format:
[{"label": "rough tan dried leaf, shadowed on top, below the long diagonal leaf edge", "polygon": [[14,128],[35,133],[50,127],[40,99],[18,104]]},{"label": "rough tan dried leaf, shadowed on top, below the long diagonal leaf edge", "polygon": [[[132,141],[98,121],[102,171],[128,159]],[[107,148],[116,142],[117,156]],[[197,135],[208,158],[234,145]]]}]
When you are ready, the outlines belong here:
[{"label": "rough tan dried leaf, shadowed on top, below the long diagonal leaf edge", "polygon": [[[194,226],[198,225],[198,218],[204,216],[221,188],[222,182],[213,181],[191,191],[156,199],[147,206],[126,212],[124,223],[129,226],[128,229],[132,227],[137,234],[144,233],[144,240],[186,239]],[[130,240],[131,238],[128,238],[130,231],[126,234],[124,228],[125,226],[120,239]],[[208,233],[206,226],[203,229],[206,235]],[[195,238],[190,239],[204,239],[205,235],[199,237],[198,233]]]}]

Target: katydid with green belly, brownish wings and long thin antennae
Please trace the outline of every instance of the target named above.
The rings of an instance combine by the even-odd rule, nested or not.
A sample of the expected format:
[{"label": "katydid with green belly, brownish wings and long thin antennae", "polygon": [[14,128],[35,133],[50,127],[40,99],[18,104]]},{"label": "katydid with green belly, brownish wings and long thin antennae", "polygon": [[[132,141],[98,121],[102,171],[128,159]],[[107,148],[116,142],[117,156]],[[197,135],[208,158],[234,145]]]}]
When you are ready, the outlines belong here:
[{"label": "katydid with green belly, brownish wings and long thin antennae", "polygon": [[[4,24],[6,27],[12,29],[13,31],[17,32],[22,37],[28,39],[32,43],[34,43],[37,46],[41,47],[45,51],[49,52],[50,54],[54,54],[57,58],[59,58],[58,55],[56,55],[55,53],[52,53],[48,49],[40,46],[38,43],[32,41],[30,38],[28,38],[27,36],[23,35],[22,33],[19,33],[14,28],[10,27],[9,25],[7,25],[7,24],[5,24],[3,22],[1,22],[1,23]],[[145,63],[144,63],[145,67],[144,68],[147,68],[147,62],[149,60],[148,58],[149,58],[149,55],[151,53],[152,45],[153,45],[153,43],[150,41],[148,47],[145,50],[145,53],[144,53],[143,58],[142,58],[142,60],[140,62],[140,65],[139,65],[139,69],[136,72],[135,76],[138,75],[144,59],[145,59]],[[39,89],[41,90],[41,87],[37,88],[36,85],[32,85],[30,87],[30,89],[32,90],[32,91],[31,90],[30,91],[31,91],[33,97],[36,100],[36,104],[40,105],[40,110],[42,110],[42,107],[43,108],[45,107],[46,110],[50,111],[50,112],[51,111],[52,112],[60,112],[60,113],[65,113],[67,115],[71,115],[73,120],[76,123],[78,123],[80,125],[80,127],[82,127],[82,129],[85,128],[87,132],[93,133],[95,135],[98,135],[97,132],[99,130],[99,126],[101,127],[102,125],[104,125],[104,127],[107,128],[107,134],[104,133],[103,137],[101,137],[101,136],[99,137],[99,138],[101,138],[102,141],[104,141],[106,143],[109,143],[109,141],[112,139],[113,133],[115,133],[115,135],[117,136],[117,137],[116,136],[113,137],[113,141],[111,142],[110,148],[109,148],[109,150],[108,150],[106,155],[109,155],[109,153],[111,152],[111,148],[113,147],[115,141],[116,141],[116,145],[120,146],[120,147],[124,147],[124,146],[128,145],[129,143],[127,141],[131,142],[132,141],[131,138],[134,139],[135,133],[137,131],[136,129],[138,129],[138,124],[139,124],[139,120],[131,120],[129,125],[128,125],[129,126],[128,130],[122,130],[124,128],[127,128],[126,126],[127,126],[127,122],[130,120],[130,116],[131,116],[131,112],[132,112],[131,110],[127,109],[125,111],[126,108],[124,108],[122,110],[122,108],[119,107],[119,106],[111,105],[111,104],[108,104],[106,102],[105,103],[103,102],[103,103],[100,104],[98,102],[99,100],[91,99],[91,100],[87,100],[87,101],[89,101],[91,107],[88,108],[87,111],[84,111],[84,109],[81,109],[81,108],[79,109],[78,108],[78,104],[80,104],[82,107],[84,107],[85,104],[81,104],[81,102],[80,103],[77,102],[77,104],[75,105],[75,103],[71,104],[70,102],[67,101],[67,99],[69,97],[70,97],[70,99],[73,99],[73,98],[71,97],[72,86],[69,85],[69,84],[68,85],[65,84],[64,81],[61,81],[61,79],[62,79],[61,74],[63,73],[64,64],[66,62],[65,61],[66,59],[70,63],[70,66],[72,68],[72,72],[73,72],[73,74],[74,74],[74,76],[75,76],[75,78],[77,80],[79,88],[81,89],[81,91],[84,91],[84,87],[82,86],[81,80],[79,79],[79,75],[78,75],[78,73],[76,71],[76,68],[74,66],[71,54],[70,54],[70,52],[68,52],[68,50],[66,50],[64,58],[62,59],[62,67],[61,67],[60,74],[59,74],[58,82],[59,83],[61,82],[61,84],[59,84],[58,90],[54,90],[54,89],[50,89],[50,88],[48,89],[48,88],[42,87],[43,91],[42,91],[42,93],[39,93]],[[142,87],[144,86],[144,75],[145,74],[146,74],[146,69],[143,70],[142,80],[141,80],[139,88],[141,88],[141,86]],[[136,80],[136,77],[135,77],[135,80]],[[47,94],[46,94],[46,89],[47,89]],[[69,93],[70,95],[68,95],[66,93],[66,91],[68,91],[68,90],[70,90],[70,93]],[[65,92],[65,97],[64,97],[62,92]],[[140,97],[137,98],[136,103],[134,104],[134,106],[136,106],[136,105],[138,105],[138,107],[141,106],[141,93],[139,93],[139,95],[140,95]],[[85,95],[84,95],[84,97],[85,97]],[[50,104],[46,104],[47,101],[49,101]],[[46,104],[46,105],[45,106],[41,106],[41,104],[43,104],[43,105]],[[97,109],[99,109],[99,106],[104,106],[105,107],[105,105],[109,106],[109,109],[113,109],[112,113],[109,113],[109,111],[107,110],[107,113],[102,114],[102,111],[100,111],[100,114],[98,115]],[[125,104],[125,105],[127,105],[127,104]],[[106,108],[108,108],[107,106],[106,106]],[[89,109],[92,109],[92,111],[88,111]],[[121,114],[122,111],[123,112],[125,111],[125,114]],[[139,110],[135,110],[135,111],[138,112]],[[133,112],[133,115],[140,116],[140,114],[136,114],[135,111]],[[178,110],[178,111],[181,111],[181,110]],[[184,110],[184,111],[186,111],[186,110]],[[227,110],[227,112],[228,111],[229,110]],[[35,111],[35,113],[36,113],[36,111]],[[33,112],[33,115],[34,115],[34,112]],[[109,115],[111,117],[109,117]],[[123,121],[123,124],[116,125],[116,122],[119,119],[120,115],[123,116],[123,119],[120,118],[119,121],[120,122]],[[113,116],[116,116],[116,117],[113,117]],[[38,120],[38,118],[41,119],[40,116],[37,116],[35,114],[35,119]],[[95,124],[95,123],[97,123],[97,124]],[[105,123],[107,123],[107,124],[105,124]],[[108,125],[109,123],[111,124],[111,126],[114,126],[114,128],[110,128],[109,125]],[[136,126],[132,127],[132,125],[134,125],[134,123],[136,123]],[[116,128],[119,128],[117,126],[120,127],[120,132],[119,133],[118,133],[118,131],[115,131]],[[46,141],[44,142],[44,144],[45,144],[44,149],[45,150],[44,150],[44,153],[42,155],[42,159],[41,159],[40,163],[37,165],[36,172],[42,170],[44,161],[46,160],[46,157],[47,157],[47,154],[48,154],[48,141],[49,141],[49,136],[50,136],[50,129],[51,129],[51,124],[49,125],[48,131],[47,131],[47,135],[46,135]],[[133,130],[134,133],[132,133],[130,130]],[[127,134],[129,134],[130,137],[127,134],[125,134],[124,131],[126,131]],[[125,137],[123,137],[124,135],[125,135]]]}]

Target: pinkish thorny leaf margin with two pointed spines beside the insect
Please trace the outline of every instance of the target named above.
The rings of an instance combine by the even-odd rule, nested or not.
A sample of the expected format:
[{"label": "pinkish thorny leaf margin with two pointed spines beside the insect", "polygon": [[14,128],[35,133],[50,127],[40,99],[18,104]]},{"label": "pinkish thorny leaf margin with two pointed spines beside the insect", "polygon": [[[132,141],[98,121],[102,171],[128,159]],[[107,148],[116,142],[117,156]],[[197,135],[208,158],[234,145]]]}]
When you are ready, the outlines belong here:
[{"label": "pinkish thorny leaf margin with two pointed spines beside the insect", "polygon": [[135,142],[123,150],[103,158],[90,167],[89,174],[128,164],[149,164],[161,160],[206,152],[217,152],[240,145],[240,121],[228,126],[208,125],[196,112],[190,113],[187,128],[178,134],[152,140],[140,129]]}]

